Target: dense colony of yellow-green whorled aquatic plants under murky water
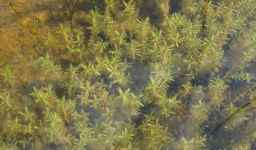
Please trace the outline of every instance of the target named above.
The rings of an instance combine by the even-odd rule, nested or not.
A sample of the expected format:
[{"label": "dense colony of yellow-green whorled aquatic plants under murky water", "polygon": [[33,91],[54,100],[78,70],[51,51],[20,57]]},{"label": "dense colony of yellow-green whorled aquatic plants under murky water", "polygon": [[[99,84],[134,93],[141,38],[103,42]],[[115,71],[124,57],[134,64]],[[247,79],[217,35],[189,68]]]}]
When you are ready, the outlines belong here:
[{"label": "dense colony of yellow-green whorled aquatic plants under murky water", "polygon": [[48,32],[34,80],[1,68],[1,149],[255,148],[255,2],[183,0],[158,24],[145,4],[105,0]]}]

